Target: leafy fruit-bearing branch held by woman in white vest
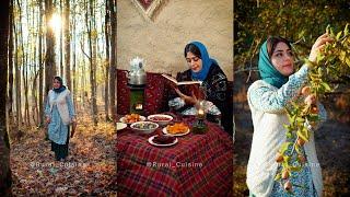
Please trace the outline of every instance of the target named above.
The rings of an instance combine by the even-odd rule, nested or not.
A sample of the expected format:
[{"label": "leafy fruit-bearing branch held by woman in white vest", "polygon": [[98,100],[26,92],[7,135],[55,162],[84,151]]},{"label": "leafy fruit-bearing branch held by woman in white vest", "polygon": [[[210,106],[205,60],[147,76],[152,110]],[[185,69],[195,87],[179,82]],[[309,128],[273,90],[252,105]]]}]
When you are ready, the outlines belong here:
[{"label": "leafy fruit-bearing branch held by woman in white vest", "polygon": [[[328,26],[326,32],[329,33],[334,42],[326,44],[324,50],[318,54],[316,62],[305,60],[311,65],[308,73],[310,93],[316,97],[322,97],[325,93],[336,90],[338,85],[331,83],[334,80],[348,82],[346,81],[347,79],[343,79],[350,76],[350,34],[348,26],[349,24],[337,34]],[[304,94],[306,96],[306,93]],[[284,158],[281,172],[285,170],[299,172],[304,164],[304,155],[301,151],[303,144],[300,144],[299,140],[308,142],[310,130],[306,128],[305,123],[315,125],[319,119],[318,109],[316,105],[296,101],[291,103],[289,108],[287,108],[287,114],[290,125],[284,125],[284,128],[287,128],[287,141],[281,146],[279,151]],[[293,148],[287,149],[291,143]],[[296,151],[299,163],[296,166],[285,160],[285,158],[293,157],[294,150]],[[279,176],[280,174],[277,174],[275,179],[280,181]]]}]

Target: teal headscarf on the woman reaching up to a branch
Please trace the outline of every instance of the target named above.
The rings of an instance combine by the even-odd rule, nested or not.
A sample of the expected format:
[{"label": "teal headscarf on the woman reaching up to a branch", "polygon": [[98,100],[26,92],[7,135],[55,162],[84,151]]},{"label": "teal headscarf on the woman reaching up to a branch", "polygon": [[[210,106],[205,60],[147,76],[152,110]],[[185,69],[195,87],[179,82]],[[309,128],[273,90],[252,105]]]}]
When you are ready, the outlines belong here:
[{"label": "teal headscarf on the woman reaching up to a branch", "polygon": [[258,68],[261,79],[278,89],[288,82],[288,77],[281,74],[271,63],[267,53],[267,40],[260,48]]}]

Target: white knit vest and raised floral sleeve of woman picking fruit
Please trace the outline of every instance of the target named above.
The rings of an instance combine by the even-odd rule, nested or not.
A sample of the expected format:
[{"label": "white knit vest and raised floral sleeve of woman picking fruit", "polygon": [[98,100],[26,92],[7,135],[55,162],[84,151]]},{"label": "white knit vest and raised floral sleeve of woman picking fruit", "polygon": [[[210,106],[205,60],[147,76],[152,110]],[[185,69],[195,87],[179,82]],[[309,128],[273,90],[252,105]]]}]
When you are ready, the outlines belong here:
[{"label": "white knit vest and raised floral sleeve of woman picking fruit", "polygon": [[[277,173],[276,154],[285,141],[285,128],[289,124],[284,112],[288,103],[298,95],[307,79],[307,66],[289,77],[289,81],[280,89],[258,80],[248,89],[248,104],[252,111],[254,135],[247,165],[247,185],[255,196],[269,196]],[[325,108],[319,106],[320,119],[326,119]],[[310,142],[305,143],[306,159],[311,165],[312,178],[318,196],[322,196],[323,179],[317,160],[314,132]]]}]

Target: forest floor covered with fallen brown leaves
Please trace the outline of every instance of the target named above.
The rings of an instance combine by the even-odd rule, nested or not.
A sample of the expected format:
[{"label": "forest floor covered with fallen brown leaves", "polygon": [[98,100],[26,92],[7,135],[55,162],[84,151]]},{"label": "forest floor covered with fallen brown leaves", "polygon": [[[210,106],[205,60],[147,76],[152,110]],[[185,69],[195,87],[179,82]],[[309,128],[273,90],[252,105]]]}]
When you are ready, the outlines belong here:
[{"label": "forest floor covered with fallen brown leaves", "polygon": [[14,196],[116,196],[115,127],[88,115],[78,117],[65,162],[55,161],[44,129],[24,131],[11,144]]}]

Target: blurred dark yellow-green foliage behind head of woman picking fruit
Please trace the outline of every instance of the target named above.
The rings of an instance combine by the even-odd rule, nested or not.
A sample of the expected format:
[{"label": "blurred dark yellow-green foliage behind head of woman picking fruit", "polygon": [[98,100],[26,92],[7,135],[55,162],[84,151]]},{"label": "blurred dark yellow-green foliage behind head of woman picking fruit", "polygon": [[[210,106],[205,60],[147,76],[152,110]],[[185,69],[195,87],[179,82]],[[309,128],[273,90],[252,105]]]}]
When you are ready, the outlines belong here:
[{"label": "blurred dark yellow-green foliage behind head of woman picking fruit", "polygon": [[259,46],[269,35],[290,39],[299,60],[328,24],[342,28],[350,19],[346,0],[238,0],[235,2],[235,70],[257,67]]}]

